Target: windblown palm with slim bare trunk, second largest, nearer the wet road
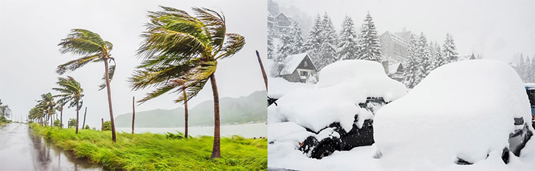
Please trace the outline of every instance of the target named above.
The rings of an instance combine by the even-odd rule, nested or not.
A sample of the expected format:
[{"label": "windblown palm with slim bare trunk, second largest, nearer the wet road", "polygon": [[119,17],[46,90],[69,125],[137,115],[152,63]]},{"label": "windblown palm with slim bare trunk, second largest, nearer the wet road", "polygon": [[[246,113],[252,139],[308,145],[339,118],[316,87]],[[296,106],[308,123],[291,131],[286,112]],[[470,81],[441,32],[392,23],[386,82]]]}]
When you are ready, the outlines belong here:
[{"label": "windblown palm with slim bare trunk, second largest, nearer the wet road", "polygon": [[[57,73],[62,75],[67,70],[76,70],[88,64],[89,62],[104,62],[104,77],[105,83],[102,83],[99,90],[106,88],[108,90],[108,108],[110,109],[110,121],[112,124],[112,140],[115,140],[115,122],[113,120],[113,109],[111,101],[110,81],[115,73],[115,58],[111,57],[110,51],[113,49],[113,44],[102,40],[98,34],[95,34],[86,29],[72,29],[67,38],[61,40],[61,53],[73,53],[75,55],[82,55],[83,57],[77,60],[69,61],[58,66]],[[109,62],[113,62],[112,66],[108,66]]]}]

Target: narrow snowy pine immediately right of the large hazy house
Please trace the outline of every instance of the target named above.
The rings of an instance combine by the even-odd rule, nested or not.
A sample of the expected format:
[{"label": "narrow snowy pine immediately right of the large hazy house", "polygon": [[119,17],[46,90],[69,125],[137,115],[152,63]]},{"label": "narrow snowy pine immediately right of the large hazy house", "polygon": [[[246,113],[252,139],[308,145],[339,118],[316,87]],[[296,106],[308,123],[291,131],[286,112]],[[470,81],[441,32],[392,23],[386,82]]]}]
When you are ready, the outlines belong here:
[{"label": "narrow snowy pine immediately right of the large hazy house", "polygon": [[403,83],[407,88],[414,88],[416,86],[416,74],[418,73],[418,57],[416,57],[416,51],[418,46],[418,40],[416,35],[411,34],[409,39],[409,48],[407,49],[407,57],[403,62]]}]

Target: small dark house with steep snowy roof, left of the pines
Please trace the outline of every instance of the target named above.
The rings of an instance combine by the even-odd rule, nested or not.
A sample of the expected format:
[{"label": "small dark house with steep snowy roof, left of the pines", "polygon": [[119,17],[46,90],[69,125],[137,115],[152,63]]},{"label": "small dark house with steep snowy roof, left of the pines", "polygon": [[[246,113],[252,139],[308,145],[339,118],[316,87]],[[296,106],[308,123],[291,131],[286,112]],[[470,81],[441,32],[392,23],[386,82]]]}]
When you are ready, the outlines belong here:
[{"label": "small dark house with steep snowy roof, left of the pines", "polygon": [[286,60],[281,76],[287,81],[305,83],[309,76],[316,73],[317,68],[310,60],[308,53],[289,55]]}]

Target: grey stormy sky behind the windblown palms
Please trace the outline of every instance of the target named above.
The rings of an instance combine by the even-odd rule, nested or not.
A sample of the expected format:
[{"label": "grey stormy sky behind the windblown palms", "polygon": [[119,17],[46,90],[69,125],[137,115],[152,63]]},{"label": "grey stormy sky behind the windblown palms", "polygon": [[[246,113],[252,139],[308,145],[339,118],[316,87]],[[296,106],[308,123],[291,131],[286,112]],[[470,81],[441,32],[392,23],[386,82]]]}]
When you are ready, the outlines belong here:
[{"label": "grey stormy sky behind the windblown palms", "polygon": [[[216,71],[219,96],[247,96],[265,90],[255,50],[265,54],[267,47],[266,1],[21,1],[0,0],[0,99],[14,114],[26,115],[40,98],[56,86],[56,66],[75,57],[61,55],[57,44],[70,29],[83,28],[96,32],[114,44],[112,56],[117,62],[112,81],[112,105],[115,116],[132,112],[132,96],[140,99],[144,91],[130,91],[126,79],[141,61],[135,57],[148,21],[147,11],[160,10],[158,5],[187,10],[211,8],[226,16],[228,33],[245,36],[246,46],[236,55],[219,62]],[[265,55],[264,55],[265,56]],[[88,64],[67,75],[80,81],[84,88],[87,121],[99,127],[100,118],[109,120],[106,90],[97,91],[104,75],[104,64]],[[164,95],[136,107],[136,111],[174,109],[176,94]],[[209,83],[190,101],[191,107],[212,99]],[[83,109],[82,109],[83,110]],[[83,115],[83,111],[81,111]],[[83,117],[83,116],[81,116]],[[64,120],[75,118],[73,108],[64,109]]]}]

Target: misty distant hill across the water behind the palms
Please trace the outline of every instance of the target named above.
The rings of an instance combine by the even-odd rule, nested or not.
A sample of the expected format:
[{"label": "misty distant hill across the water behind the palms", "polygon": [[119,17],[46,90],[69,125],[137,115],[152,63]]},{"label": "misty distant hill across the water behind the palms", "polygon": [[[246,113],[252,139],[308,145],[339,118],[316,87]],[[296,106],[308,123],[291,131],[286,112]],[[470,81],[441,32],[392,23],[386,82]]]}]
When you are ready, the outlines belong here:
[{"label": "misty distant hill across the water behind the palms", "polygon": [[[253,92],[239,98],[224,97],[219,99],[221,124],[242,124],[247,122],[266,122],[268,107],[265,91]],[[189,126],[213,125],[213,101],[204,101],[195,107],[189,107]],[[135,127],[184,127],[184,108],[154,109],[136,111]],[[115,127],[132,127],[132,113],[115,118]]]}]

